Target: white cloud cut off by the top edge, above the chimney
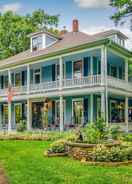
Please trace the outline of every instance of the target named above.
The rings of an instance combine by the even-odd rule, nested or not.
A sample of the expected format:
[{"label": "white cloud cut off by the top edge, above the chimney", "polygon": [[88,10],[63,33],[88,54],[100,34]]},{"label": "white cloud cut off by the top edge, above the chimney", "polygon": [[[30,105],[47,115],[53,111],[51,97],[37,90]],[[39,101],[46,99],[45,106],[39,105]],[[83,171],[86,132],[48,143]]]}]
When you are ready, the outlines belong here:
[{"label": "white cloud cut off by the top edge, above the chimney", "polygon": [[74,0],[81,8],[108,8],[110,0]]}]

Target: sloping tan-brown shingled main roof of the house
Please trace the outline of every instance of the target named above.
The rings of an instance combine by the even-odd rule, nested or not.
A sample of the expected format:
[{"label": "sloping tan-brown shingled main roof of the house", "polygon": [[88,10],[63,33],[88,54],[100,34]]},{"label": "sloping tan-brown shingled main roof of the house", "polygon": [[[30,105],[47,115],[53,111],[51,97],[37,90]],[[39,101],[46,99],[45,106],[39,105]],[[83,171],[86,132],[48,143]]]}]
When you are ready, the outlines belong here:
[{"label": "sloping tan-brown shingled main roof of the house", "polygon": [[[45,49],[42,49],[40,51],[34,51],[34,52],[31,52],[31,50],[29,49],[15,56],[1,60],[0,67],[5,65],[10,65],[10,64],[14,65],[15,63],[18,63],[18,62],[19,64],[23,64],[23,62],[25,61],[35,60],[35,59],[37,60],[40,57],[46,57],[47,55],[53,55],[54,53],[61,53],[66,49],[70,50],[75,47],[79,48],[82,45],[99,42],[101,40],[107,39],[106,35],[108,35],[108,33],[113,33],[113,30],[94,34],[94,35],[88,35],[82,32],[67,32],[66,34],[63,35],[63,37],[61,37],[61,39],[58,39],[53,45]],[[127,50],[125,52],[127,52]]]}]

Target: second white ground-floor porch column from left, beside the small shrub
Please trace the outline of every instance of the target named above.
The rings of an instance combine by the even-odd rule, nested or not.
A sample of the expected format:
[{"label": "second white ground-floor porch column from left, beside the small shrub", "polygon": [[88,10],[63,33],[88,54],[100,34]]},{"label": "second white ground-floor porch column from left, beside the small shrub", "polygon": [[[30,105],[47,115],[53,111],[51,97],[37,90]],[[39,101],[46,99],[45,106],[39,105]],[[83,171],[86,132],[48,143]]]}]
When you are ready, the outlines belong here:
[{"label": "second white ground-floor porch column from left, beside the small shrub", "polygon": [[30,99],[27,100],[27,130],[31,130],[32,124],[32,102]]}]

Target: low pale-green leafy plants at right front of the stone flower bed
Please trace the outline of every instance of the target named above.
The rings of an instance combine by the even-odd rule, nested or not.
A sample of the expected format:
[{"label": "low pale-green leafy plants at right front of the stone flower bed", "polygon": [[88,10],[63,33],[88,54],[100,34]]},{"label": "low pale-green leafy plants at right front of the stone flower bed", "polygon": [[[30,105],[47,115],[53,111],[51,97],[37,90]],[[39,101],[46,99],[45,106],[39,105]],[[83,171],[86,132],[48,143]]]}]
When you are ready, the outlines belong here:
[{"label": "low pale-green leafy plants at right front of the stone flower bed", "polygon": [[93,161],[97,162],[122,162],[128,160],[126,149],[119,146],[108,149],[104,145],[97,145],[91,157]]}]

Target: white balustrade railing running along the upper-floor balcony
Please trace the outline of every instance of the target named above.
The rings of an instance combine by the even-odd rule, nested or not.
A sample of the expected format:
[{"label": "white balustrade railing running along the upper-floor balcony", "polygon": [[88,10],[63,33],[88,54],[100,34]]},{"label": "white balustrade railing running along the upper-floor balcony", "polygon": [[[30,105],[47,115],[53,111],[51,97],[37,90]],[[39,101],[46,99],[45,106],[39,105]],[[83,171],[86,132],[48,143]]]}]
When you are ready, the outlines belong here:
[{"label": "white balustrade railing running along the upper-floor balcony", "polygon": [[[62,89],[98,87],[106,84],[106,80],[101,79],[101,75],[90,75],[88,77],[63,79]],[[111,88],[118,88],[132,92],[132,83],[125,80],[107,76],[107,85]],[[59,90],[59,80],[42,82],[40,84],[30,84],[30,86],[13,87],[13,95],[37,94]],[[0,89],[0,96],[7,96],[8,89]]]}]

